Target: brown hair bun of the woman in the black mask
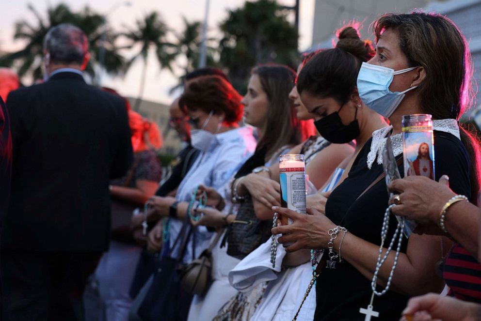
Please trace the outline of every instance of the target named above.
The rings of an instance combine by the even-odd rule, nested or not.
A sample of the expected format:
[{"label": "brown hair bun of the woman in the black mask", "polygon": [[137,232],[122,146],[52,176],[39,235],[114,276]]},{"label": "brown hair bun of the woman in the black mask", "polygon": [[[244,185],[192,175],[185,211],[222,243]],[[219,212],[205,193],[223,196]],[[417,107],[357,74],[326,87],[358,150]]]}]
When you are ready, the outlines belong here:
[{"label": "brown hair bun of the woman in the black mask", "polygon": [[349,26],[344,27],[338,32],[336,48],[347,51],[361,61],[368,61],[371,59],[375,52],[374,48],[369,40],[361,40],[357,29]]}]

